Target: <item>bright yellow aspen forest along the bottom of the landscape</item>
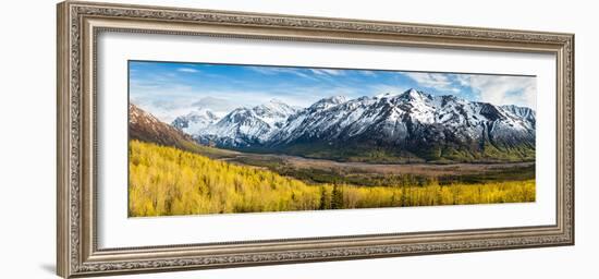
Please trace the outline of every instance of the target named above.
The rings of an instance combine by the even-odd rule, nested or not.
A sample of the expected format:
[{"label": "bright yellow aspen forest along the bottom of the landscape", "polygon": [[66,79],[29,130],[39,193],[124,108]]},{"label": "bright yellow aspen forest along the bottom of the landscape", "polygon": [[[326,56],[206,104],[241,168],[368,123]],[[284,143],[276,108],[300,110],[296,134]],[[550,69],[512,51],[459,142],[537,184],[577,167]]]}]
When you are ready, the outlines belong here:
[{"label": "bright yellow aspen forest along the bottom of the landscape", "polygon": [[325,210],[535,201],[535,180],[414,186],[314,183],[139,141],[129,148],[129,216]]}]

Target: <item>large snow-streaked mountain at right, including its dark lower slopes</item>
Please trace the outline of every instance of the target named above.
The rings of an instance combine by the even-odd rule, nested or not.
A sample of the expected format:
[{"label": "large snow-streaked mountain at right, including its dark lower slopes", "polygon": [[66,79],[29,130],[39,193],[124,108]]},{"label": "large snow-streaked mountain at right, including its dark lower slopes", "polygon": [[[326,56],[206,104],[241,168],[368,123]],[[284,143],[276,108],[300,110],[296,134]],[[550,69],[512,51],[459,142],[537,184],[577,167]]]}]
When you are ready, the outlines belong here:
[{"label": "large snow-streaked mountain at right, including its dark lower slopes", "polygon": [[[528,158],[535,148],[535,111],[493,106],[415,89],[362,97],[317,111],[301,111],[269,141],[271,147],[304,150],[328,146],[349,154],[383,149],[425,159]],[[362,151],[358,151],[362,150]],[[490,155],[492,150],[499,154]],[[308,154],[309,155],[309,154]],[[328,156],[328,155],[325,155]]]}]

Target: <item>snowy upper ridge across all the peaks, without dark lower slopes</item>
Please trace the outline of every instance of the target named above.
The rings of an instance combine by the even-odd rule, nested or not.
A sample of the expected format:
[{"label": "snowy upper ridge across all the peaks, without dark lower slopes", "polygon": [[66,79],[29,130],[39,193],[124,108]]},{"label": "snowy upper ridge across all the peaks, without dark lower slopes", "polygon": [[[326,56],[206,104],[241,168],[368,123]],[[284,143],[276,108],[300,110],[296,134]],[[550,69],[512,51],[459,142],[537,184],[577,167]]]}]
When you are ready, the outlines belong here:
[{"label": "snowy upper ridge across all the peaks, without dark lower slopes", "polygon": [[[419,125],[441,125],[467,137],[490,131],[509,134],[534,133],[534,110],[517,106],[493,106],[444,95],[431,96],[411,88],[401,94],[384,93],[374,97],[349,99],[331,96],[300,109],[271,99],[253,107],[237,108],[197,131],[196,137],[212,136],[237,145],[285,144],[298,138],[342,138],[365,134],[372,129],[402,136],[406,121]],[[191,130],[190,130],[191,131]],[[533,132],[530,132],[533,131]]]}]

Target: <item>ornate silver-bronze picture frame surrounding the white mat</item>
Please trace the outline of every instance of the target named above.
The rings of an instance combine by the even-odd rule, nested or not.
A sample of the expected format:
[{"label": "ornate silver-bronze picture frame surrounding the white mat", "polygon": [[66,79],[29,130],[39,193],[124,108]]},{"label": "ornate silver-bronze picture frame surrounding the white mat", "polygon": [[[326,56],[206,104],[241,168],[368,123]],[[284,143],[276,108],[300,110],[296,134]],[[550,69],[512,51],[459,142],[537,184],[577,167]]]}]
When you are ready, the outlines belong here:
[{"label": "ornate silver-bronze picture frame surrounding the white mat", "polygon": [[[557,56],[557,223],[100,250],[96,241],[96,37],[102,32],[542,52]],[[60,276],[222,268],[574,244],[574,35],[66,1],[58,5]]]}]

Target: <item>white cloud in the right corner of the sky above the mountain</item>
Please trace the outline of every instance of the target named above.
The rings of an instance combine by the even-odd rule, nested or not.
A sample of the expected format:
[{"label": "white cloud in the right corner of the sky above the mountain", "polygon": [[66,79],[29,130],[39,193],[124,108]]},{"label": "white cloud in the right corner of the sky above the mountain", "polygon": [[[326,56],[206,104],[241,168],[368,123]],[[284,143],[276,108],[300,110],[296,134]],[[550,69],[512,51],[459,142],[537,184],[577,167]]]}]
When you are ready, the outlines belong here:
[{"label": "white cloud in the right corner of the sky above the mountain", "polygon": [[457,75],[460,84],[469,86],[479,99],[493,105],[537,107],[537,82],[530,76]]}]

